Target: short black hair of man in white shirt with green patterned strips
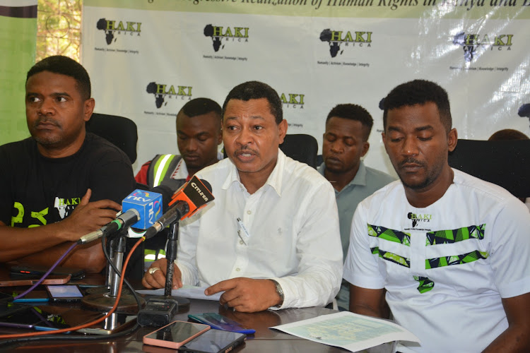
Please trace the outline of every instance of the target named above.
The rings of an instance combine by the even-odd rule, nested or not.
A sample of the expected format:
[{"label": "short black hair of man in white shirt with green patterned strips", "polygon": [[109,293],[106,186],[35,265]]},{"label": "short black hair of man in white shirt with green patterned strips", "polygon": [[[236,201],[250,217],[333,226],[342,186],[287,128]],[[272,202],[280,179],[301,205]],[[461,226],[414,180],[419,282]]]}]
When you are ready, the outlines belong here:
[{"label": "short black hair of man in white shirt with green patterned strips", "polygon": [[423,105],[428,102],[436,104],[440,113],[440,120],[447,133],[449,133],[452,127],[449,96],[440,85],[428,80],[412,80],[402,83],[391,90],[387,97],[384,97],[382,102],[384,129],[387,129],[387,114],[389,110],[416,104]]}]

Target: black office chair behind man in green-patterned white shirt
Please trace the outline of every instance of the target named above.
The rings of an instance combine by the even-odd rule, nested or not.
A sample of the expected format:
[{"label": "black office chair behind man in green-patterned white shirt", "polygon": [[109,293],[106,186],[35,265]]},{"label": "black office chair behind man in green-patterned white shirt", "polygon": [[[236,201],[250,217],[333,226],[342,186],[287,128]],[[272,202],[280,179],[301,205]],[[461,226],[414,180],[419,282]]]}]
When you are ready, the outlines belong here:
[{"label": "black office chair behind man in green-patterned white shirt", "polygon": [[530,140],[458,140],[449,165],[518,198],[530,197]]}]

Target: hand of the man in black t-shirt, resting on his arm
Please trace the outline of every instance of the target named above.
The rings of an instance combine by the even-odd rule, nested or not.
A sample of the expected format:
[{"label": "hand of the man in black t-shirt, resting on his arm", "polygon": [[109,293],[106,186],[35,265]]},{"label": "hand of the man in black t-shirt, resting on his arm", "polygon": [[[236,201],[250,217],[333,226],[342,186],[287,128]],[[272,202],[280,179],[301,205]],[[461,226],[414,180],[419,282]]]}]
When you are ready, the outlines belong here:
[{"label": "hand of the man in black t-shirt, resting on his arm", "polygon": [[[81,202],[69,217],[59,222],[62,237],[65,241],[77,241],[80,237],[100,229],[116,218],[116,213],[122,209],[119,203],[111,200],[90,201],[92,191],[88,189]],[[81,234],[81,235],[80,235]]]}]

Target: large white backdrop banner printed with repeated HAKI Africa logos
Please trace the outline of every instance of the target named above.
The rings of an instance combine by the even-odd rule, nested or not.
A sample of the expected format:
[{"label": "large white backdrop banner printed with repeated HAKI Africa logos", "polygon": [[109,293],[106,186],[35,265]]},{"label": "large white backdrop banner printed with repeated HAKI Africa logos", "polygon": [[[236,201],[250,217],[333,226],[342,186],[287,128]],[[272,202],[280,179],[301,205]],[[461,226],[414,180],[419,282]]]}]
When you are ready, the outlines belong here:
[{"label": "large white backdrop banner printed with repeated HAKI Africa logos", "polygon": [[529,30],[530,0],[86,0],[83,65],[96,112],[139,128],[135,172],[177,153],[185,102],[222,105],[261,80],[281,95],[288,133],[321,149],[331,108],[365,107],[375,121],[365,163],[395,175],[379,102],[414,78],[449,92],[459,138],[530,135]]}]

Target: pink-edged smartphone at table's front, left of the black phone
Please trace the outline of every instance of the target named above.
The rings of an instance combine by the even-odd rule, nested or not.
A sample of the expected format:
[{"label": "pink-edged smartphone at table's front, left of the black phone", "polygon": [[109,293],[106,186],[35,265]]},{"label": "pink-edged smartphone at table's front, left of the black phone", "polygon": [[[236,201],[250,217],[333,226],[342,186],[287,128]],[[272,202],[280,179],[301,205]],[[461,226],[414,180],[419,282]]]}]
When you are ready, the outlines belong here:
[{"label": "pink-edged smartphone at table's front, left of the black phone", "polygon": [[148,335],[143,336],[143,343],[178,349],[184,343],[210,330],[210,326],[187,321],[173,321]]}]

